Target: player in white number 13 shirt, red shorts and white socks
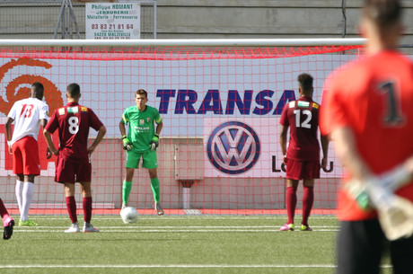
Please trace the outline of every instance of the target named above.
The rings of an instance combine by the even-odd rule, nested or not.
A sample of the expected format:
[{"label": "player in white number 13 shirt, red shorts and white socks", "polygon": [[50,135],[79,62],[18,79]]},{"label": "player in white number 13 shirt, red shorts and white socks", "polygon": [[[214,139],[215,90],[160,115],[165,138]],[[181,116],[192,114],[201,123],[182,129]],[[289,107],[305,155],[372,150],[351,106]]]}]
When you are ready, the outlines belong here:
[{"label": "player in white number 13 shirt, red shorts and white socks", "polygon": [[[48,104],[42,101],[43,92],[43,84],[31,84],[31,97],[14,102],[5,122],[9,153],[13,155],[13,173],[17,176],[15,191],[20,210],[20,226],[38,225],[28,219],[28,215],[34,177],[40,175],[40,125],[44,128],[48,122]],[[48,153],[47,157],[50,158]]]}]

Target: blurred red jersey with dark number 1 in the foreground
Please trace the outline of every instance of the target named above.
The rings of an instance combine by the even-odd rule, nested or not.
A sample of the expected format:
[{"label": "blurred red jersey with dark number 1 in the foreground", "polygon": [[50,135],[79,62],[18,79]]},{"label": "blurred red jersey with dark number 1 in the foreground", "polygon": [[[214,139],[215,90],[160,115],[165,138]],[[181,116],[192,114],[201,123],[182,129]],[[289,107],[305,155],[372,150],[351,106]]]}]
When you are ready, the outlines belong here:
[{"label": "blurred red jersey with dark number 1 in the foreground", "polygon": [[[323,94],[321,133],[351,128],[359,155],[372,172],[391,170],[413,155],[413,64],[396,51],[382,51],[333,75]],[[348,174],[347,177],[351,177]],[[413,184],[397,191],[413,201]],[[342,189],[342,220],[376,217]]]}]

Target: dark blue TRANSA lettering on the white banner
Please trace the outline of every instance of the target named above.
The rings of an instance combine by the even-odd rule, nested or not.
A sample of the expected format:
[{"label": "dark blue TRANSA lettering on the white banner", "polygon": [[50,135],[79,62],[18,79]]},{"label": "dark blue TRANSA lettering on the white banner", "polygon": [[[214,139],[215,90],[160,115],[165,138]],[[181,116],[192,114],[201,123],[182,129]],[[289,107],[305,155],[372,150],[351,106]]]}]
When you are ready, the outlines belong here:
[{"label": "dark blue TRANSA lettering on the white banner", "polygon": [[[250,115],[251,108],[254,104],[252,114],[264,115],[280,115],[286,104],[295,100],[293,90],[285,90],[274,108],[273,96],[274,91],[263,90],[257,93],[254,100],[252,90],[245,90],[243,96],[237,90],[230,90],[227,93],[227,101],[225,110],[221,101],[221,93],[219,90],[208,90],[202,100],[198,110],[196,103],[198,102],[198,93],[194,90],[176,90],[158,89],[156,97],[161,98],[159,104],[159,113],[168,114],[171,106],[171,98],[176,98],[175,114],[206,114],[212,112],[215,115],[234,115],[237,110],[242,115]],[[199,93],[200,94],[200,93]]]}]

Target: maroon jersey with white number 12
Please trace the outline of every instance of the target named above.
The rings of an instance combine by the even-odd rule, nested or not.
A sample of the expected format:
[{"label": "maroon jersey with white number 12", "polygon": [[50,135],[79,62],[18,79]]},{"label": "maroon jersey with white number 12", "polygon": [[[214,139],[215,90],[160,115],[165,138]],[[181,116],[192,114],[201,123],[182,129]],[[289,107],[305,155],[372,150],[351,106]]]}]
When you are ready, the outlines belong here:
[{"label": "maroon jersey with white number 12", "polygon": [[290,127],[290,143],[286,156],[295,161],[320,161],[319,129],[320,105],[311,97],[302,96],[286,104],[279,123]]}]

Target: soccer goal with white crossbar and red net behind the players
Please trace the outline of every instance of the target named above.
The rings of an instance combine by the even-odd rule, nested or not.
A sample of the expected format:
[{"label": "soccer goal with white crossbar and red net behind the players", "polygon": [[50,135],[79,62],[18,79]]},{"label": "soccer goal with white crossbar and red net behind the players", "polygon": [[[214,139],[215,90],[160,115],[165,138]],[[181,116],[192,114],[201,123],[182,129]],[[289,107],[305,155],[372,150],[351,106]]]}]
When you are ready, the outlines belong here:
[{"label": "soccer goal with white crossbar and red net behind the players", "polygon": [[[363,40],[0,40],[0,193],[13,214],[12,158],[4,123],[30,86],[45,86],[50,114],[66,104],[67,84],[81,86],[80,104],[92,108],[108,132],[92,155],[94,212],[118,214],[126,154],[119,121],[137,89],[159,110],[157,149],[166,214],[283,214],[285,166],[279,118],[298,98],[297,76],[314,77],[314,101],[333,69],[357,58]],[[91,140],[96,132],[91,131]],[[57,136],[54,137],[57,144]],[[64,188],[54,181],[56,157],[46,159],[39,136],[41,174],[30,214],[66,214]],[[342,167],[330,145],[329,164],[315,182],[314,214],[334,214]],[[80,188],[76,189],[82,207]],[[298,214],[302,185],[298,189]],[[136,170],[129,205],[154,214],[146,169]]]}]

